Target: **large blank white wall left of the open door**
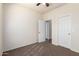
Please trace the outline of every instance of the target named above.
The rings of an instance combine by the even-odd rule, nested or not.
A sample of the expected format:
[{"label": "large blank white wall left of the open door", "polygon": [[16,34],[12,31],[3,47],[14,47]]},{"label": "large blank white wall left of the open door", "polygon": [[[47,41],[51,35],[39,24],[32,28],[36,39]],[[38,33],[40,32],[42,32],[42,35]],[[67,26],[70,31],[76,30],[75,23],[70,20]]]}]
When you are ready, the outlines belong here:
[{"label": "large blank white wall left of the open door", "polygon": [[37,42],[41,14],[18,4],[5,4],[4,51]]}]

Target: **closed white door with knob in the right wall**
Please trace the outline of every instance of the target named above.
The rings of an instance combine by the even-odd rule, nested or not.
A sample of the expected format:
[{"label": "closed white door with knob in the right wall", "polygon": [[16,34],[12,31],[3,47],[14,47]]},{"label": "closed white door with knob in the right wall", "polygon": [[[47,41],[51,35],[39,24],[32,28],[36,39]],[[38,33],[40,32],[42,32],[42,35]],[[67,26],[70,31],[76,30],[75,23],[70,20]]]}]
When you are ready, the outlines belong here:
[{"label": "closed white door with knob in the right wall", "polygon": [[59,18],[59,45],[71,47],[71,17],[70,15]]}]

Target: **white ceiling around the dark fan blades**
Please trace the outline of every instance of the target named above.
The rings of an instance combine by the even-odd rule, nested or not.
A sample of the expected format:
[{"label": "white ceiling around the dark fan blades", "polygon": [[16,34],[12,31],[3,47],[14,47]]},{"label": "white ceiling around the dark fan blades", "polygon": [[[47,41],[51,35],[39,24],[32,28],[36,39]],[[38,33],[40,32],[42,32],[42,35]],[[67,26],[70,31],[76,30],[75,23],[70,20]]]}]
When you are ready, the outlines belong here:
[{"label": "white ceiling around the dark fan blades", "polygon": [[27,4],[22,4],[32,10],[35,10],[39,13],[46,13],[49,12],[55,8],[61,7],[63,5],[65,5],[65,3],[50,3],[49,7],[46,7],[45,5],[41,4],[39,6],[36,6],[36,3],[27,3]]}]

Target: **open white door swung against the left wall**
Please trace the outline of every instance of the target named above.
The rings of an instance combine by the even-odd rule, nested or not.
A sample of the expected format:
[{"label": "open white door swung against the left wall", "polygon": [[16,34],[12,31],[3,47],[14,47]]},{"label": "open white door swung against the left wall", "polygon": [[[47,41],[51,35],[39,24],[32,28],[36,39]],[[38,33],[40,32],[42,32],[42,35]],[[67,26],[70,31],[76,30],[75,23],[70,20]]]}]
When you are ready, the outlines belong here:
[{"label": "open white door swung against the left wall", "polygon": [[39,20],[38,22],[38,42],[45,41],[45,21]]}]

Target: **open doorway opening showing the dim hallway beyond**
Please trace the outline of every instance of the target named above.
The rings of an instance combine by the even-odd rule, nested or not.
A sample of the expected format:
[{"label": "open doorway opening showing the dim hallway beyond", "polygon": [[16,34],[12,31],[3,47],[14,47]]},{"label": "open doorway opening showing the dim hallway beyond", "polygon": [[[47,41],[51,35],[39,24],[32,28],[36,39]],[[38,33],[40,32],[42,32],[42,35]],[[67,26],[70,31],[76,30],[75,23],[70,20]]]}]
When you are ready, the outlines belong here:
[{"label": "open doorway opening showing the dim hallway beyond", "polygon": [[49,43],[52,42],[52,25],[51,25],[51,20],[46,20],[45,21],[45,39]]}]

